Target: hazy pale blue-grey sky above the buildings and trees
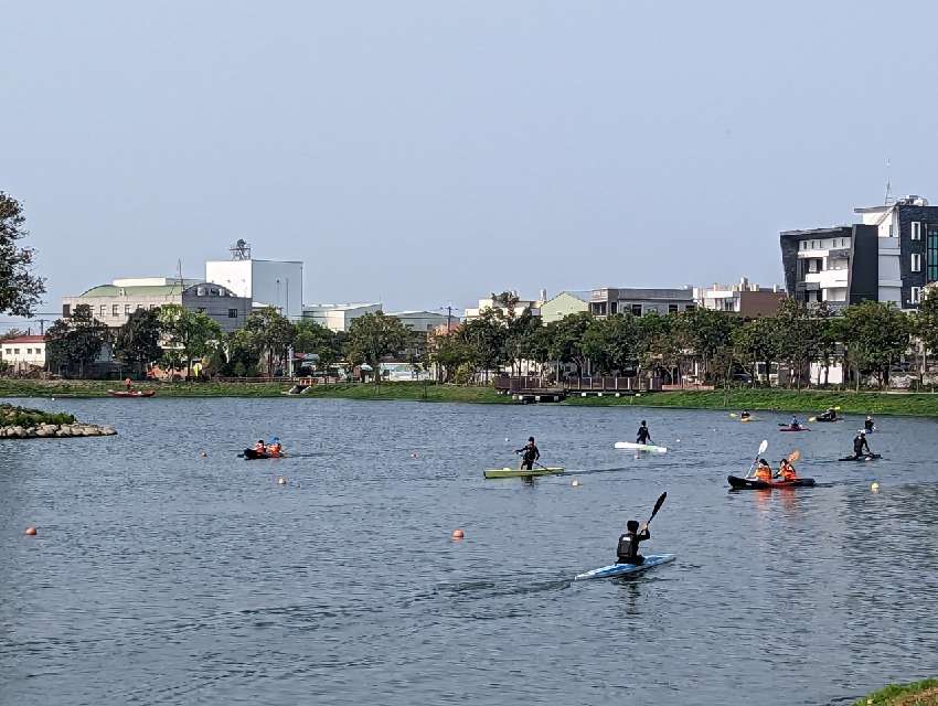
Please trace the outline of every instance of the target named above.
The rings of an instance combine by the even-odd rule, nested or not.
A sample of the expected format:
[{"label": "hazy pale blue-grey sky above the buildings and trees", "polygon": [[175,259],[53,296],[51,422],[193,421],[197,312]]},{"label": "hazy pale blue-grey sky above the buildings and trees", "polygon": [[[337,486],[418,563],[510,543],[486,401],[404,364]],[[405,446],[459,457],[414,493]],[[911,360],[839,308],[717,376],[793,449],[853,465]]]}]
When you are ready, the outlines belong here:
[{"label": "hazy pale blue-grey sky above the buildings and trees", "polygon": [[938,202],[938,3],[0,0],[0,189],[46,311],[249,240],[303,300],[782,281]]}]

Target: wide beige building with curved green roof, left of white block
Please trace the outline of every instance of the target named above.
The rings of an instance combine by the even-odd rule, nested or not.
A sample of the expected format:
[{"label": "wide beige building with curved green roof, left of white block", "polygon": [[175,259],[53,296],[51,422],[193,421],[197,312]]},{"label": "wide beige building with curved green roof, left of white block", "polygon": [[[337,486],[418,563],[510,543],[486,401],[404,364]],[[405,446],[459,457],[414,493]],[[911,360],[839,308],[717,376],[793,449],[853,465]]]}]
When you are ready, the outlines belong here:
[{"label": "wide beige building with curved green roof, left of white block", "polygon": [[244,325],[251,313],[251,299],[238,297],[221,285],[168,277],[115,279],[110,285],[93,287],[77,297],[63,297],[62,317],[71,318],[81,304],[90,307],[95,319],[111,329],[124,325],[137,309],[159,309],[166,304],[203,312],[226,333]]}]

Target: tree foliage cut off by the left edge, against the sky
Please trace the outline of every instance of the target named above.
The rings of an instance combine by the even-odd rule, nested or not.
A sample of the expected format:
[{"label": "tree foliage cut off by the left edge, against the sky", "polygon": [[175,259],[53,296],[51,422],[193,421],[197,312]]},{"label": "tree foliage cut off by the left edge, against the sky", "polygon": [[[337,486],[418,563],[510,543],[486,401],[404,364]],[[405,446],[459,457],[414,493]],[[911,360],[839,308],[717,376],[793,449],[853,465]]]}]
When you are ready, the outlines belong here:
[{"label": "tree foliage cut off by the left edge, against the sky", "polygon": [[45,293],[45,282],[32,274],[35,250],[17,242],[29,235],[19,201],[0,191],[0,313],[31,317]]}]

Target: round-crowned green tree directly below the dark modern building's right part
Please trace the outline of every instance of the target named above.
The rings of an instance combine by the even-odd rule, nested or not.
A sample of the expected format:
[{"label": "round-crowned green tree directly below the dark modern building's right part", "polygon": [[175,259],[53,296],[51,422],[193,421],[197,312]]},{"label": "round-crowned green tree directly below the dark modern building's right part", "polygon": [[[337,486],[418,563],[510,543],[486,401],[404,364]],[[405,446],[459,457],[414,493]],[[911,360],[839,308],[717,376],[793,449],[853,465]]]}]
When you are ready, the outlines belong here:
[{"label": "round-crowned green tree directly below the dark modern building's right part", "polygon": [[893,302],[861,301],[844,310],[840,328],[848,362],[856,371],[856,388],[864,373],[874,373],[882,387],[891,365],[908,350],[908,318]]}]

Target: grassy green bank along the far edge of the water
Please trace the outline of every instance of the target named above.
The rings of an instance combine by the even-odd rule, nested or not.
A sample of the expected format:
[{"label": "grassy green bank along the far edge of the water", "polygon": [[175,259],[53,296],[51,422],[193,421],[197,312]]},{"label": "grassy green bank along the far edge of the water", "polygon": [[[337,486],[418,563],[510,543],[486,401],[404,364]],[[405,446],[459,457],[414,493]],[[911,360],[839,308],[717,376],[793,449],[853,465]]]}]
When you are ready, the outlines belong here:
[{"label": "grassy green bank along the far edge of the water", "polygon": [[[462,387],[424,383],[372,384],[342,383],[309,388],[300,395],[286,395],[289,383],[141,383],[140,389],[156,389],[156,398],[284,398],[449,402],[466,404],[520,404],[492,387]],[[108,389],[120,389],[114,381],[33,381],[0,379],[0,398],[105,398]],[[121,400],[128,404],[130,400]],[[146,399],[136,400],[146,404]],[[716,409],[726,411],[775,411],[804,415],[840,407],[841,414],[903,415],[938,418],[936,393],[877,393],[842,391],[789,391],[739,388],[729,392],[664,392],[640,396],[572,396],[561,403],[540,403],[567,407],[650,407],[675,409]]]}]

